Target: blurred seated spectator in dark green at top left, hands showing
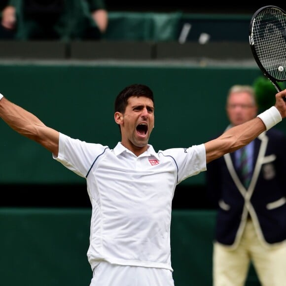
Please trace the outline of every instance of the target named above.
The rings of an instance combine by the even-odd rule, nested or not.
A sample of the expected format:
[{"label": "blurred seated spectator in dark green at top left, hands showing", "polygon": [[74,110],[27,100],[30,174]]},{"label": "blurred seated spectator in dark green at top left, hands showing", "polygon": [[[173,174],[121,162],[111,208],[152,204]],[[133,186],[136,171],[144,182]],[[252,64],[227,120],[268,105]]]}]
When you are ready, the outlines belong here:
[{"label": "blurred seated spectator in dark green at top left, hands showing", "polygon": [[2,38],[97,40],[107,29],[104,0],[7,0],[4,4]]}]

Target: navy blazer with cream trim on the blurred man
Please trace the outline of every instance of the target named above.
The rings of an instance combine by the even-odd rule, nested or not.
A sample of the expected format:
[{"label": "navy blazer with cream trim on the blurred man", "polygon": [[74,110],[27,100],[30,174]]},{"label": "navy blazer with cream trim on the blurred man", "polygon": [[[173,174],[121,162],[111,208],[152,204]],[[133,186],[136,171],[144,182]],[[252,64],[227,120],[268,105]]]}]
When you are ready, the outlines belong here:
[{"label": "navy blazer with cream trim on the blurred man", "polygon": [[208,196],[218,207],[215,240],[235,248],[248,215],[262,244],[286,240],[286,137],[276,129],[254,140],[253,175],[246,189],[235,167],[233,153],[207,164]]}]

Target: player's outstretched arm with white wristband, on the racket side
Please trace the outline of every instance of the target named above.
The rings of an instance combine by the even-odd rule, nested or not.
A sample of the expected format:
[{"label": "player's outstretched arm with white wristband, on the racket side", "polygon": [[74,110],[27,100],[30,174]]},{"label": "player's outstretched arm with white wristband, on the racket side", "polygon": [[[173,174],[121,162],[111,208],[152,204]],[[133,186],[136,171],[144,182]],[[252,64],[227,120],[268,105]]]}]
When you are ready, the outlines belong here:
[{"label": "player's outstretched arm with white wristband, on the racket side", "polygon": [[270,129],[286,117],[286,90],[276,94],[275,107],[271,107],[256,118],[232,127],[218,138],[205,143],[207,163],[233,152],[250,143],[263,131]]}]

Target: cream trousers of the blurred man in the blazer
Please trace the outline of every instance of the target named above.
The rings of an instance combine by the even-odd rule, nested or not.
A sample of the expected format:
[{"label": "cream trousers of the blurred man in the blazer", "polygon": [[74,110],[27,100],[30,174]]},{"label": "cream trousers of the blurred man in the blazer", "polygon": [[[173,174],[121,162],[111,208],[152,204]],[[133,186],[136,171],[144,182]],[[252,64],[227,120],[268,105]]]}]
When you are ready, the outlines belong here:
[{"label": "cream trousers of the blurred man in the blazer", "polygon": [[263,247],[251,220],[247,221],[237,249],[214,243],[214,286],[244,286],[250,261],[261,286],[286,286],[286,242]]}]

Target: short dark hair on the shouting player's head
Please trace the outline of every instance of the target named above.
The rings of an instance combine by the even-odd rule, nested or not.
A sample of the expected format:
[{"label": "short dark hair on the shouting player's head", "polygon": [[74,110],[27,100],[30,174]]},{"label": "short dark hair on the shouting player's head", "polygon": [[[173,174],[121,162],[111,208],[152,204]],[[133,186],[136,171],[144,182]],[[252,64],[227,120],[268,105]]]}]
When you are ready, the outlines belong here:
[{"label": "short dark hair on the shouting player's head", "polygon": [[149,98],[154,103],[152,90],[144,84],[136,83],[126,86],[122,91],[120,91],[115,99],[114,111],[124,113],[128,104],[128,99],[131,96],[144,96]]}]

